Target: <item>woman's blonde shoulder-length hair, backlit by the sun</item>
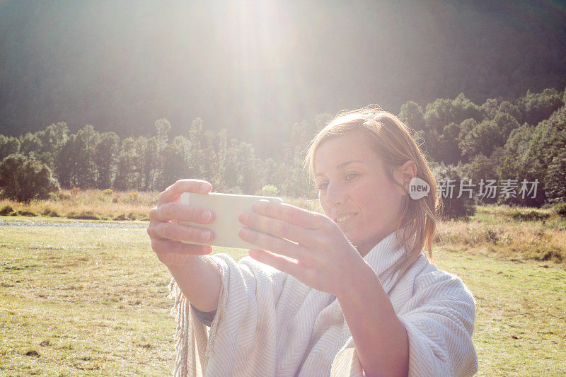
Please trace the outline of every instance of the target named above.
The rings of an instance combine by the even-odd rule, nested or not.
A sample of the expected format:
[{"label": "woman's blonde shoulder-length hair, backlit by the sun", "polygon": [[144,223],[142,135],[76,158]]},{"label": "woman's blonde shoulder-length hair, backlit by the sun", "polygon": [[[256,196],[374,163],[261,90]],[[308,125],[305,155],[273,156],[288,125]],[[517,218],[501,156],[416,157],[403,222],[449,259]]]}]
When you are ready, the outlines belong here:
[{"label": "woman's blonde shoulder-length hair, backlit by the sun", "polygon": [[[383,161],[388,177],[405,191],[405,205],[395,236],[408,251],[408,255],[405,260],[400,261],[398,269],[408,267],[422,250],[427,250],[429,260],[434,262],[432,240],[439,209],[437,181],[422,151],[412,139],[411,130],[398,117],[371,106],[340,112],[318,132],[308,146],[304,166],[308,168],[311,180],[315,174],[314,154],[318,147],[330,138],[357,131],[364,132],[368,136],[366,140]],[[407,161],[413,161],[417,166],[415,177],[424,180],[430,186],[427,196],[416,200],[410,199],[406,188],[393,178],[393,170]]]}]

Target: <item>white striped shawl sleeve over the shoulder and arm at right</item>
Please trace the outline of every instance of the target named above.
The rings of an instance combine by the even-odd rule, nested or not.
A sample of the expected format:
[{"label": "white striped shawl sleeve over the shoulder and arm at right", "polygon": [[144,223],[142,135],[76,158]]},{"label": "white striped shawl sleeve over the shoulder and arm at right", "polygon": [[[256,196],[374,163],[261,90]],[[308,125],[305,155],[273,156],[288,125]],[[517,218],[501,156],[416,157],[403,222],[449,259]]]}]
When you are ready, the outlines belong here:
[{"label": "white striped shawl sleeve over the shoulder and arm at right", "polygon": [[402,314],[409,338],[410,376],[472,376],[475,301],[458,277],[432,271],[415,279]]}]

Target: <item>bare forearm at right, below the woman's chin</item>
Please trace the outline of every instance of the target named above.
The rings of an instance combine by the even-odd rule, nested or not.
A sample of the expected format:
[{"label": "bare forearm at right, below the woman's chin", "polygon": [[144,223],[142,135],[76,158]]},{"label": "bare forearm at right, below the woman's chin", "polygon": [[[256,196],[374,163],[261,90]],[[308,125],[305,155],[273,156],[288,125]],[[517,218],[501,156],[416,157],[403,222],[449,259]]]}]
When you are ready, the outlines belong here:
[{"label": "bare forearm at right, below the woman's chin", "polygon": [[375,272],[365,265],[338,298],[366,376],[407,376],[408,335]]}]

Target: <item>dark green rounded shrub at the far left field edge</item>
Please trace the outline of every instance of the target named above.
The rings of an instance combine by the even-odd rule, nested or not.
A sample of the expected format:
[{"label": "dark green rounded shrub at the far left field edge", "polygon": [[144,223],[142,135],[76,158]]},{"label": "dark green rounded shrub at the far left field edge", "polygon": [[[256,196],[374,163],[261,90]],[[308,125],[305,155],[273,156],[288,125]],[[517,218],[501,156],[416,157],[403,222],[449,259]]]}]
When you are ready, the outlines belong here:
[{"label": "dark green rounded shrub at the far left field edge", "polygon": [[50,192],[59,190],[50,168],[21,154],[11,154],[0,164],[2,195],[17,202],[47,199]]}]

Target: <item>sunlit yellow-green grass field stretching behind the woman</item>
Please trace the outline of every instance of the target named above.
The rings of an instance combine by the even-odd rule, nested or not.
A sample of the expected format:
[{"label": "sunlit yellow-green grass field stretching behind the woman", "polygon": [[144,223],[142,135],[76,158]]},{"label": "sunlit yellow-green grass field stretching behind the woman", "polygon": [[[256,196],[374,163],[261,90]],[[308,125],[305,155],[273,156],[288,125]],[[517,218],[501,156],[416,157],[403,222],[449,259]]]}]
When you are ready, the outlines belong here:
[{"label": "sunlit yellow-green grass field stretching behind the woman", "polygon": [[[509,211],[441,224],[435,260],[475,296],[479,376],[565,375],[563,220]],[[170,277],[144,229],[0,231],[0,375],[171,373]]]}]

